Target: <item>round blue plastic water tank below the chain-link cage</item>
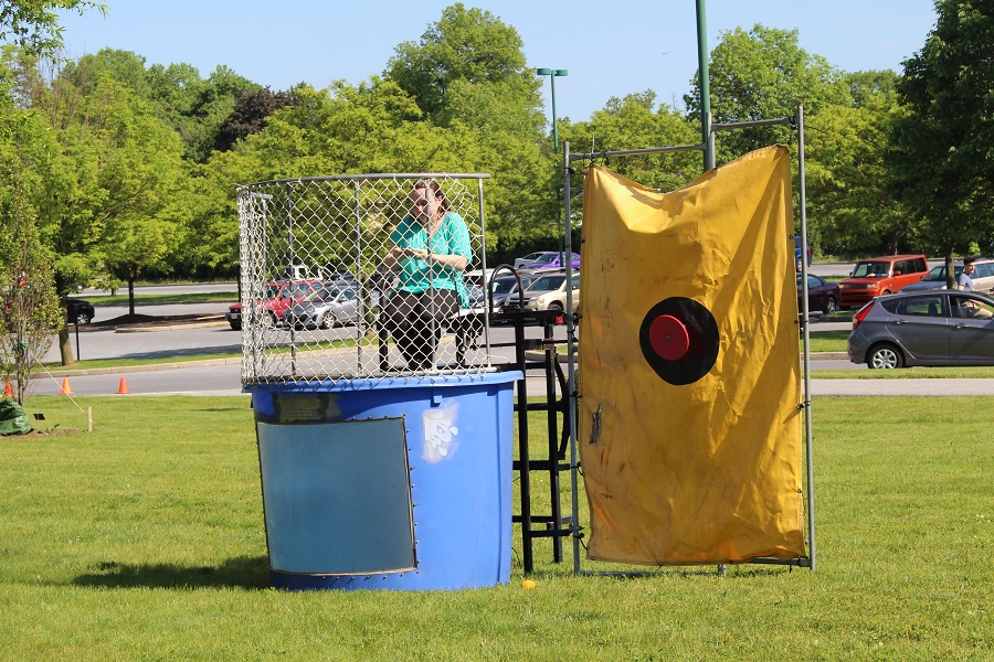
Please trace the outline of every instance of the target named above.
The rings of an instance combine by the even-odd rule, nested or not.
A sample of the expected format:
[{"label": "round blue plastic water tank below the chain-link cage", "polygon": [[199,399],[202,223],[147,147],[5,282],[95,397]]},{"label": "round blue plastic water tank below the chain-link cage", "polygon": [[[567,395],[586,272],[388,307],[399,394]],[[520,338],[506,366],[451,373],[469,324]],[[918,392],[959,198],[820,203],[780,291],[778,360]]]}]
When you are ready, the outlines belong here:
[{"label": "round blue plastic water tank below the chain-link cage", "polygon": [[509,581],[519,378],[246,385],[272,585],[426,590]]}]

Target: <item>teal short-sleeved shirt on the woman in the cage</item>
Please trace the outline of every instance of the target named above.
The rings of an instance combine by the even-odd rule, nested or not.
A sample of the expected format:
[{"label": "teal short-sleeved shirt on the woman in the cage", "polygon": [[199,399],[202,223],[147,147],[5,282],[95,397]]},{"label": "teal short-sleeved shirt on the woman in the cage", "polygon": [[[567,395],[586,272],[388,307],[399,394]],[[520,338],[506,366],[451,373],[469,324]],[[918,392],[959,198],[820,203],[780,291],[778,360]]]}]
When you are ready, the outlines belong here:
[{"label": "teal short-sleeved shirt on the woman in the cage", "polygon": [[[466,258],[466,264],[473,261],[473,249],[469,247],[469,228],[466,222],[455,212],[448,212],[442,218],[442,224],[431,237],[424,226],[411,216],[404,216],[398,223],[390,241],[400,248],[429,249],[436,255],[461,255]],[[400,263],[400,284],[398,289],[409,292],[423,292],[434,287],[435,289],[451,289],[459,295],[463,308],[469,306],[469,292],[463,284],[463,273],[447,265],[440,265],[434,260],[414,259],[405,257]]]}]

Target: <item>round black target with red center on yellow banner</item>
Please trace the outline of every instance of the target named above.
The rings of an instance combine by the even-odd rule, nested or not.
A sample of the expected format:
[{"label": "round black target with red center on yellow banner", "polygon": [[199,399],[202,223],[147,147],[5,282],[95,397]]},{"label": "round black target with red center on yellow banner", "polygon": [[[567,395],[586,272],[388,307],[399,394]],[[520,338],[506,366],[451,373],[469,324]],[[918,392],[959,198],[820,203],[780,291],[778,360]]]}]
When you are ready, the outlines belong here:
[{"label": "round black target with red center on yellow banner", "polygon": [[638,345],[664,382],[692,384],[718,360],[718,322],[694,299],[670,297],[653,306],[642,320]]}]

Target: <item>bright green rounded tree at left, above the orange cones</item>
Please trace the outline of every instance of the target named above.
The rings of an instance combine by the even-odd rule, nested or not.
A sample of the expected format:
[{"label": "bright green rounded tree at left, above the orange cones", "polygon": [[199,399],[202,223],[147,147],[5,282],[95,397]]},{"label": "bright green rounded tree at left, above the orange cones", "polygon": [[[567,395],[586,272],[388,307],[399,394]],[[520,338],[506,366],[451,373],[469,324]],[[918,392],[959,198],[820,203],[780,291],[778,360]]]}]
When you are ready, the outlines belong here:
[{"label": "bright green rounded tree at left, above the orange cones", "polygon": [[[42,237],[56,256],[63,298],[101,274],[133,285],[141,268],[162,264],[168,231],[187,213],[176,202],[188,188],[179,136],[135,90],[142,86],[141,63],[126,52],[104,51],[70,63],[47,86],[25,87],[30,94],[22,96],[55,129],[56,143],[42,169],[45,185],[35,191],[34,205]],[[133,253],[125,257],[121,246]],[[64,330],[60,341],[63,363],[70,364]]]}]

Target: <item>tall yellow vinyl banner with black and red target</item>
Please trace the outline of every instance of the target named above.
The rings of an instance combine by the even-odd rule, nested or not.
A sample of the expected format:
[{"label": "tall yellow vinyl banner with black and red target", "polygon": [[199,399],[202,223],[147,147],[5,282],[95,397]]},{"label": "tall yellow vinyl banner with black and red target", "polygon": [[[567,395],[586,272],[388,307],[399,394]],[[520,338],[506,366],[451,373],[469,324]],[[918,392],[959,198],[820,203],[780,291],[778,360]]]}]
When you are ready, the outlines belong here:
[{"label": "tall yellow vinyl banner with black and red target", "polygon": [[658,193],[586,172],[578,439],[589,556],[805,556],[791,169],[774,146]]}]

